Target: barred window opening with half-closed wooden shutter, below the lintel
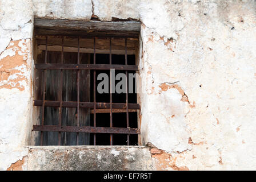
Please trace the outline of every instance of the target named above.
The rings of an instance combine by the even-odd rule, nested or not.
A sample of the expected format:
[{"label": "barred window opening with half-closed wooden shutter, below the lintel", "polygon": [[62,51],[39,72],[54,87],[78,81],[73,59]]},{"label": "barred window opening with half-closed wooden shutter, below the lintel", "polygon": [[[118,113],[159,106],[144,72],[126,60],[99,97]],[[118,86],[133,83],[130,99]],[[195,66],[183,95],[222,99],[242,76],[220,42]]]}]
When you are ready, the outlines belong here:
[{"label": "barred window opening with half-closed wooden shutter, below the lintel", "polygon": [[35,37],[38,145],[138,144],[137,43],[119,37]]}]

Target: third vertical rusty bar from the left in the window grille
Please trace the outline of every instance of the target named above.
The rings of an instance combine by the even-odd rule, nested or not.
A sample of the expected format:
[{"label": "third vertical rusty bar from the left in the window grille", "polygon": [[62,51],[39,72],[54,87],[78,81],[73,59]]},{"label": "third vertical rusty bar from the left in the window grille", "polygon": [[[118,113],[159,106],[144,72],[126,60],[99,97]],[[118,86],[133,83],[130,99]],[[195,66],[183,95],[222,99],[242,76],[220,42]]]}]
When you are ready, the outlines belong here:
[{"label": "third vertical rusty bar from the left in the window grille", "polygon": [[[80,44],[79,44],[79,38],[77,40],[77,64],[80,63]],[[79,126],[79,101],[80,101],[80,70],[77,71],[77,126]],[[79,133],[77,133],[77,145],[79,143]]]}]

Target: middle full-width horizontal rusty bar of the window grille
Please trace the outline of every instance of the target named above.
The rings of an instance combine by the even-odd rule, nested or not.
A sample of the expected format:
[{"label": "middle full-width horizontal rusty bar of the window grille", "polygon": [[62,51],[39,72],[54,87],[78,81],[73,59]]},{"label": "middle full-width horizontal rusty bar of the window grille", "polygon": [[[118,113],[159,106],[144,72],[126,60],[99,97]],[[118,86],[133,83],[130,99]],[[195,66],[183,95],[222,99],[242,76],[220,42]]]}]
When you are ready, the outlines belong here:
[{"label": "middle full-width horizontal rusty bar of the window grille", "polygon": [[[60,101],[45,101],[45,106],[59,107]],[[79,107],[93,109],[93,102],[79,102]],[[34,106],[42,106],[42,100],[34,100]],[[126,103],[113,103],[113,109],[126,109]],[[77,107],[77,102],[63,101],[62,107]],[[141,109],[139,104],[128,104],[129,109]],[[110,103],[96,102],[96,109],[110,109]]]}]

